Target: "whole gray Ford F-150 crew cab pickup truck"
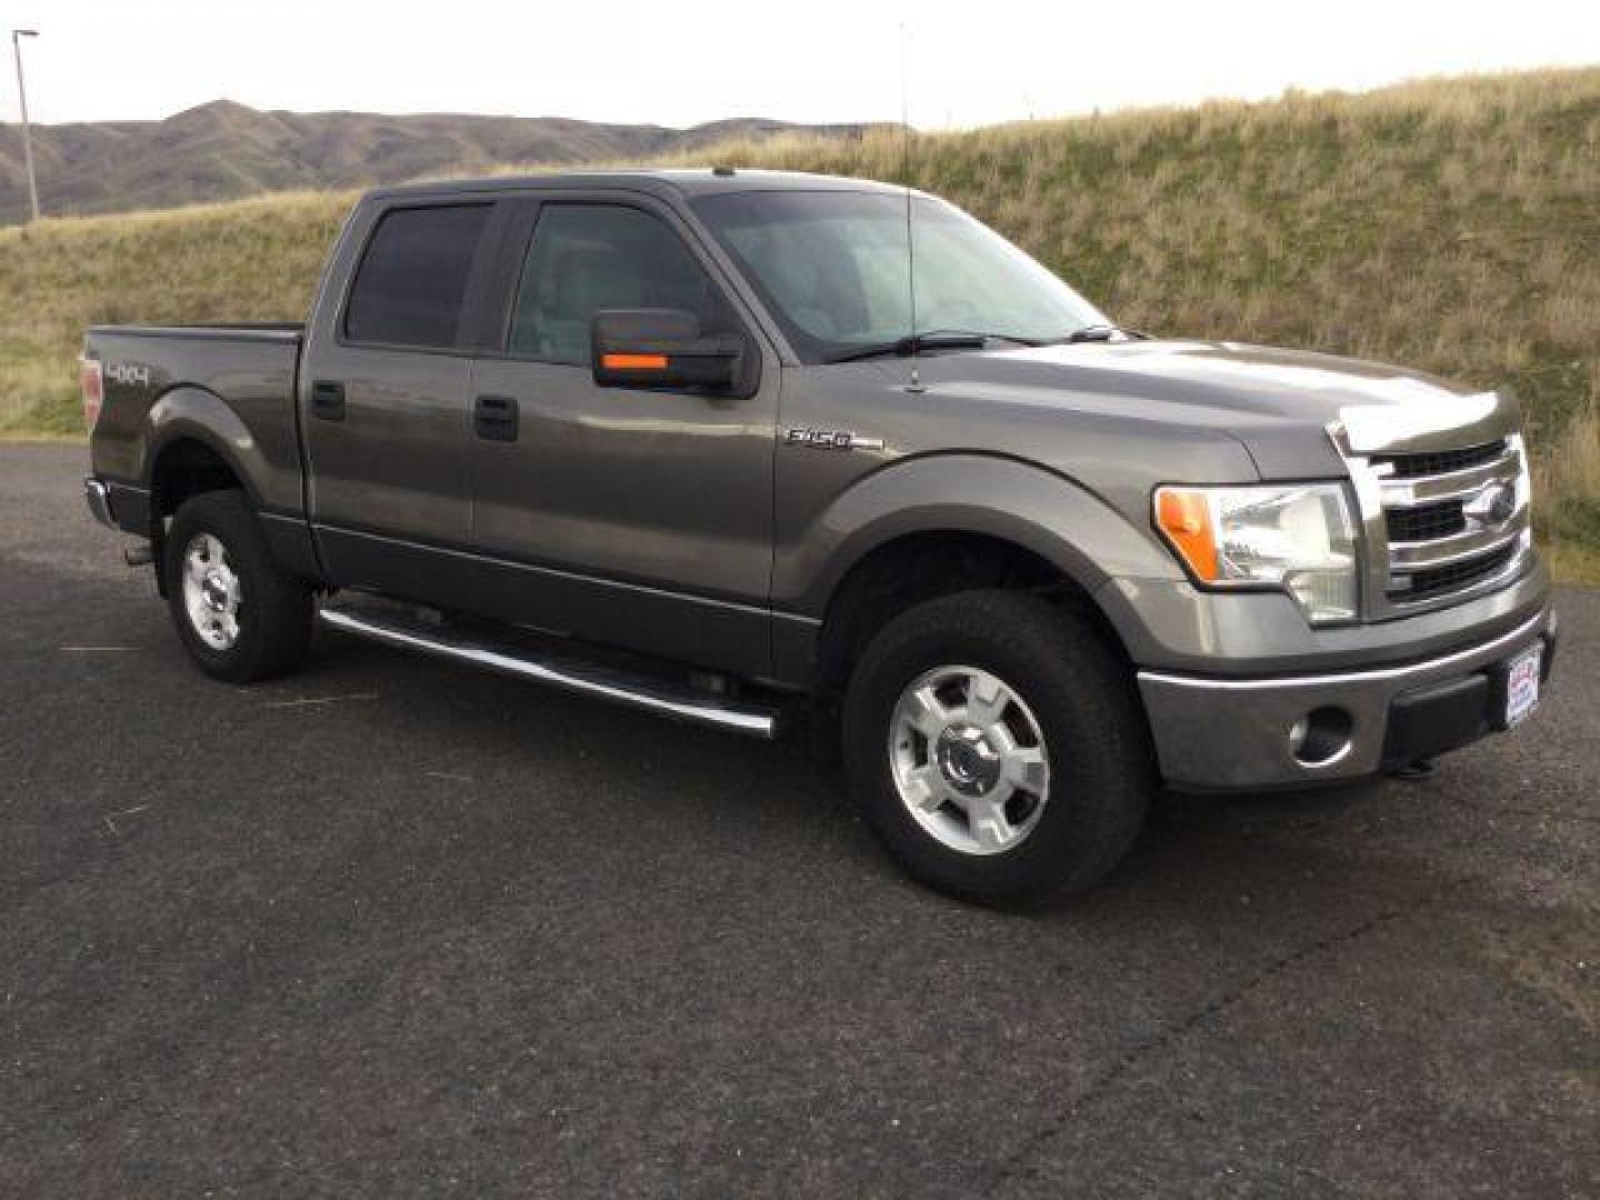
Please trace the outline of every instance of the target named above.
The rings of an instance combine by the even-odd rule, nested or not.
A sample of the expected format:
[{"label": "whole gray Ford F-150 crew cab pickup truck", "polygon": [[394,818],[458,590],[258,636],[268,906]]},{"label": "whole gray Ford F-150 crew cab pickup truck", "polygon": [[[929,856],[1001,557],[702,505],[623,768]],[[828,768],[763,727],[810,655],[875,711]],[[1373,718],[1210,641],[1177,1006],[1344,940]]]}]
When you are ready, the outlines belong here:
[{"label": "whole gray Ford F-150 crew cab pickup truck", "polygon": [[1112,325],[819,176],[376,190],[304,326],[101,326],[94,514],[200,667],[314,621],[774,736],[917,878],[1040,902],[1152,794],[1410,768],[1555,646],[1515,403]]}]

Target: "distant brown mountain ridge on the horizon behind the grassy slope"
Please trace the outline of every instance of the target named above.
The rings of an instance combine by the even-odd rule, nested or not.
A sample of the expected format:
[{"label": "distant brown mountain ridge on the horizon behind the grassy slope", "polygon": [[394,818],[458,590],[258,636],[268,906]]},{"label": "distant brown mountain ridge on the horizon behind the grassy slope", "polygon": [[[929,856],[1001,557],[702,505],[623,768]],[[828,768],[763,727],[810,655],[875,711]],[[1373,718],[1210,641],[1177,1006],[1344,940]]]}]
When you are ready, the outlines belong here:
[{"label": "distant brown mountain ridge on the horizon behind the grassy slope", "polygon": [[[34,162],[45,213],[62,216],[470,174],[504,163],[640,158],[778,133],[851,138],[866,128],[754,117],[667,130],[558,117],[258,112],[224,99],[160,122],[35,125]],[[26,216],[22,131],[0,125],[0,224]]]}]

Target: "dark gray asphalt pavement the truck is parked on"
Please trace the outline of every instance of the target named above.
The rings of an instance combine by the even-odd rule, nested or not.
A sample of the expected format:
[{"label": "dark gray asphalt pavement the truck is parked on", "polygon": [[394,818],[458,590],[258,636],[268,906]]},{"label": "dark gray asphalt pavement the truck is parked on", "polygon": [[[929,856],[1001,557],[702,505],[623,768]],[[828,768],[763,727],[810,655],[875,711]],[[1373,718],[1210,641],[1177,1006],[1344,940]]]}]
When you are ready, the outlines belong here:
[{"label": "dark gray asphalt pavement the truck is parked on", "polygon": [[1600,592],[1515,736],[1014,917],[797,746],[206,682],[83,461],[0,446],[0,1194],[1600,1194]]}]

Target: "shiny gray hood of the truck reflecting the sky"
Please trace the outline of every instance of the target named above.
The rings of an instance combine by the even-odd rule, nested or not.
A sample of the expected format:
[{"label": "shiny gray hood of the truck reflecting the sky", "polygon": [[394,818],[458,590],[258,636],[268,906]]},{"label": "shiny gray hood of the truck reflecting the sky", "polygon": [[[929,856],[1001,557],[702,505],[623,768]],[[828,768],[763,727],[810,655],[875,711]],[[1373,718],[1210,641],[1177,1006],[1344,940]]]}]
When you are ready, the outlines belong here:
[{"label": "shiny gray hood of the truck reflecting the sky", "polygon": [[1328,429],[1352,450],[1432,450],[1515,429],[1515,408],[1398,366],[1237,342],[1130,341],[922,360],[930,384],[974,398],[1122,413],[1227,434],[1262,478],[1342,474]]}]

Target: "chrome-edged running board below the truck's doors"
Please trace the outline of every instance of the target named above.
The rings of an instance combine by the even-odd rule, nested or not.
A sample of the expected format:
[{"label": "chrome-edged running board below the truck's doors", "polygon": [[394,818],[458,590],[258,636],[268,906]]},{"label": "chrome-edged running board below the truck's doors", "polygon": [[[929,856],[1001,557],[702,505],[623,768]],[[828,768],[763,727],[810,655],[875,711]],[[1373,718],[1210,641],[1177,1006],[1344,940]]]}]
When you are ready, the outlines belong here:
[{"label": "chrome-edged running board below the truck's doors", "polygon": [[403,611],[354,611],[326,606],[317,616],[346,634],[384,642],[390,646],[421,650],[475,667],[547,683],[581,696],[595,696],[634,709],[675,717],[696,725],[749,734],[778,736],[778,710],[758,704],[734,704],[691,686],[637,675],[576,658],[531,656],[522,648],[496,646],[462,637],[448,629],[408,618]]}]

